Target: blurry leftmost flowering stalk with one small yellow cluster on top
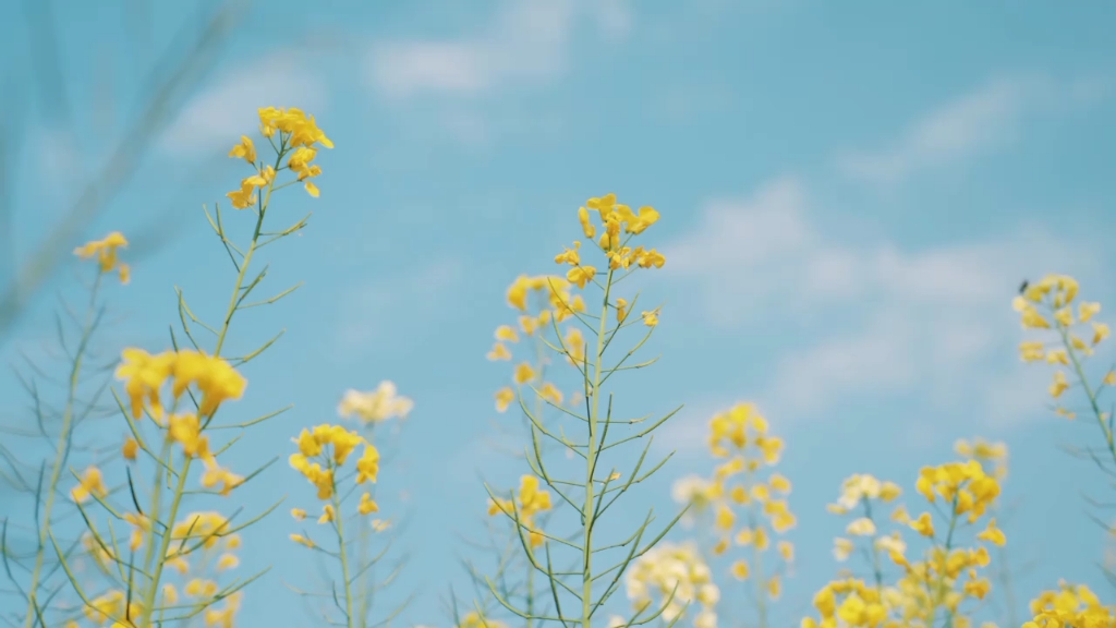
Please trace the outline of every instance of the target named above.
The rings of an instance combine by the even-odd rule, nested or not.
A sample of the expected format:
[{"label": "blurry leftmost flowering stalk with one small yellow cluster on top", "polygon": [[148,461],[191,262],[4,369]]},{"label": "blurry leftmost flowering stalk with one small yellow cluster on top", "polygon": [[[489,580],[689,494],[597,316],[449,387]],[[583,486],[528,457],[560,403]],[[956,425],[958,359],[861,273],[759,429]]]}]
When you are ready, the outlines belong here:
[{"label": "blurry leftmost flowering stalk with one small yellow cluster on top", "polygon": [[[127,239],[119,231],[113,231],[99,240],[92,240],[74,250],[74,255],[79,258],[96,261],[96,274],[89,289],[85,312],[79,316],[71,315],[78,332],[73,348],[67,341],[61,318],[58,320],[59,342],[69,359],[69,372],[65,383],[66,398],[58,416],[48,417],[49,411],[46,408],[46,402],[40,398],[41,392],[38,387],[27,386],[35,402],[36,419],[40,431],[37,436],[41,435],[56,440],[54,458],[49,463],[44,462],[41,465],[35,465],[38,467],[37,469],[27,468],[28,473],[25,473],[25,469],[21,468],[25,465],[20,464],[11,448],[0,448],[0,455],[12,469],[12,475],[7,477],[12,488],[35,496],[35,521],[38,523],[38,529],[36,530],[33,553],[27,558],[26,563],[10,558],[15,552],[11,551],[8,542],[7,518],[3,522],[2,532],[0,532],[0,554],[3,556],[4,572],[12,578],[12,584],[17,591],[26,592],[23,596],[26,610],[21,619],[22,625],[27,628],[47,626],[47,610],[48,606],[51,606],[50,598],[54,597],[49,591],[55,588],[48,588],[47,582],[55,571],[51,561],[54,550],[47,543],[48,531],[50,524],[56,520],[60,505],[58,496],[64,494],[60,484],[69,465],[70,455],[75,449],[75,430],[81,419],[95,412],[96,402],[100,397],[100,391],[98,391],[93,399],[83,401],[79,398],[79,388],[85,381],[85,373],[89,367],[93,336],[99,329],[105,312],[104,305],[99,302],[104,285],[103,278],[106,274],[118,273],[121,283],[128,283],[131,267],[119,258],[119,249],[127,248]],[[52,421],[48,420],[51,418],[58,419],[57,432],[54,432],[54,426],[50,425]],[[48,431],[48,425],[50,431]],[[37,476],[33,482],[30,479],[32,473]],[[29,579],[26,582],[21,582],[12,575],[12,565],[9,561],[18,562],[29,573]]]}]

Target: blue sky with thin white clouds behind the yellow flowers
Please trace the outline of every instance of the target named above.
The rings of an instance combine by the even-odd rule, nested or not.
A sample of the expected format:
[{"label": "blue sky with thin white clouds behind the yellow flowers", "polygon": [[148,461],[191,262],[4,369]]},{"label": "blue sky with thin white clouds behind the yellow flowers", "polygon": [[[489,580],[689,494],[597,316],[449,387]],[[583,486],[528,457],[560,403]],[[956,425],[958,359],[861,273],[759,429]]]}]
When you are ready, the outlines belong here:
[{"label": "blue sky with thin white clouds behind the yellow flowers", "polygon": [[[28,103],[13,190],[20,255],[96,172],[136,108],[147,59],[196,11],[133,12],[147,25],[136,38],[121,25],[141,6],[55,9],[78,132],[61,131],[57,107]],[[283,194],[278,215],[315,215],[269,259],[273,292],[305,285],[233,330],[240,348],[287,330],[248,368],[235,411],[296,409],[228,463],[285,458],[300,428],[334,420],[345,389],[395,381],[415,400],[397,466],[384,472],[385,491],[407,495],[386,497],[385,511],[412,517],[401,540],[411,554],[401,591],[419,592],[407,622],[448,624],[437,596],[463,582],[456,534],[479,530],[477,474],[510,485],[525,470],[483,449],[492,391],[508,377],[483,359],[512,314],[504,289],[520,273],[554,272],[552,256],[578,236],[577,207],[608,191],[662,212],[647,238],[667,256],[644,280],[666,304],[650,349],[662,362],[623,391],[641,408],[685,403],[662,439],[677,455],[637,502],[673,508],[670,482],[711,468],[710,415],[759,402],[787,438],[782,470],[800,520],[780,625],[797,624],[836,571],[829,548],[840,522],[824,504],[841,478],[873,473],[910,487],[921,465],[945,462],[955,438],[975,435],[1011,447],[1007,494],[1019,510],[1006,529],[1013,560],[1037,561],[1018,578],[1019,596],[1058,578],[1101,588],[1093,563],[1103,537],[1081,492],[1103,485],[1057,448],[1096,434],[1046,408],[1049,372],[1018,362],[1009,302],[1023,277],[1048,272],[1080,277],[1090,298],[1116,296],[1104,274],[1116,227],[1116,8],[309,6],[252,8],[87,234],[154,223],[170,236],[115,291],[125,317],[104,342],[164,348],[174,285],[218,316],[232,275],[201,206],[243,177],[224,154],[254,129],[259,106],[317,115],[337,144],[319,156],[323,194]],[[23,55],[28,38],[17,29],[7,55]],[[74,284],[67,269],[50,291]],[[23,318],[8,356],[49,339],[49,296]],[[13,381],[0,386],[18,394]],[[306,503],[300,482],[277,465],[243,504],[285,494],[285,508]],[[243,626],[309,621],[280,594],[282,582],[308,583],[291,531],[277,513],[246,544],[241,569],[275,569],[249,591]]]}]

